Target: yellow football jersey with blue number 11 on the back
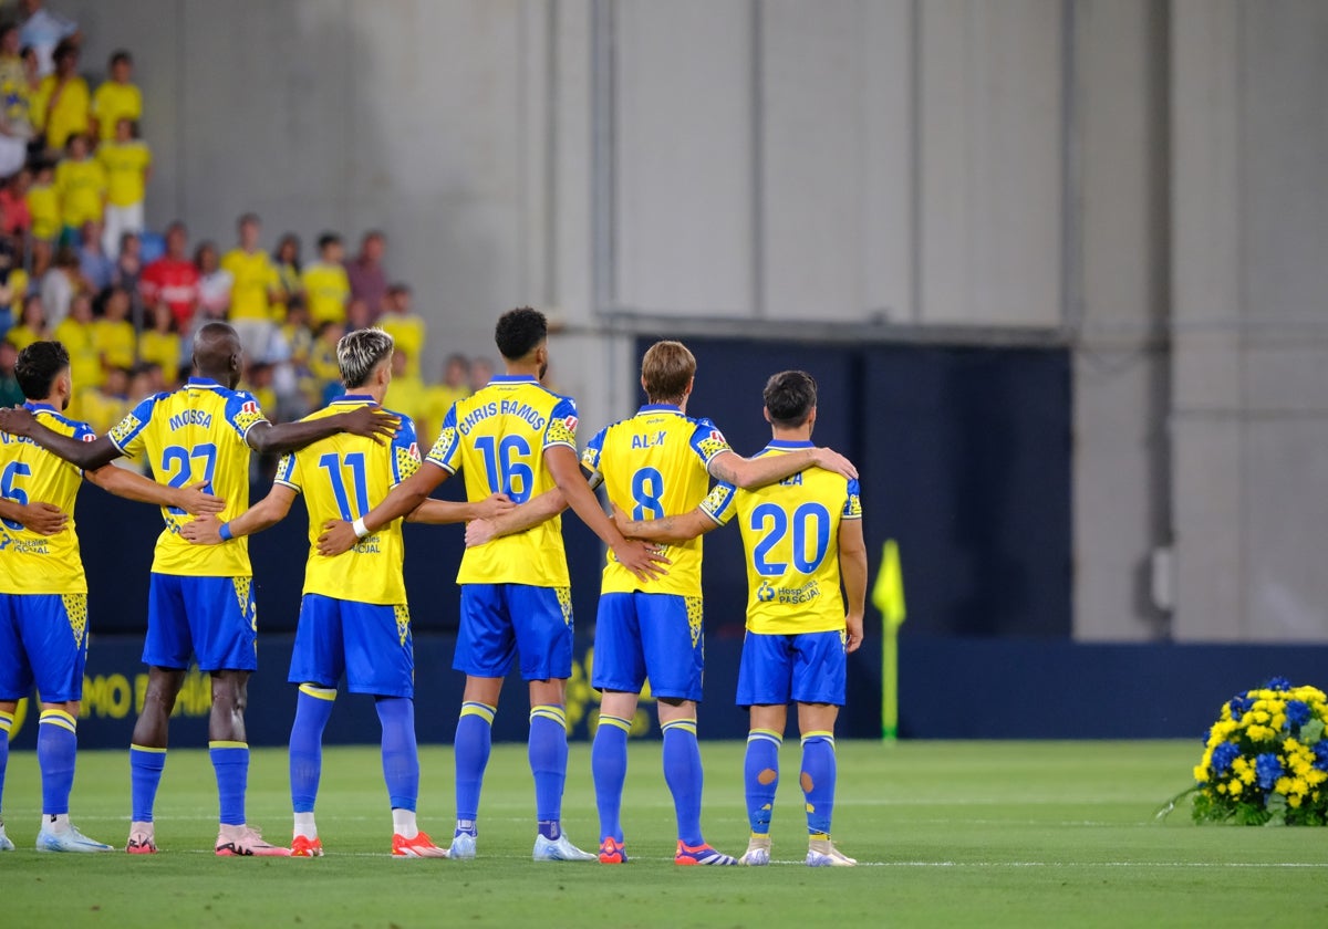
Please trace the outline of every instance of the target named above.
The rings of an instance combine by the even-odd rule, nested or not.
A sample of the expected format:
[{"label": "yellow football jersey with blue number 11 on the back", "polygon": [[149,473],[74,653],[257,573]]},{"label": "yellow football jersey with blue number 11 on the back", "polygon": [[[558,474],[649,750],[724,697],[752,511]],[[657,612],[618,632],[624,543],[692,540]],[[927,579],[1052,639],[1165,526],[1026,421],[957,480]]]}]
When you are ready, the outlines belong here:
[{"label": "yellow football jersey with blue number 11 on the back", "polygon": [[[373,405],[372,397],[348,394],[307,418],[321,419],[368,405]],[[401,417],[401,427],[390,445],[343,433],[282,458],[276,483],[303,494],[309,512],[304,593],[365,604],[406,603],[400,519],[333,557],[319,555],[317,543],[325,522],[360,519],[417,470],[420,446],[408,417]]]}]

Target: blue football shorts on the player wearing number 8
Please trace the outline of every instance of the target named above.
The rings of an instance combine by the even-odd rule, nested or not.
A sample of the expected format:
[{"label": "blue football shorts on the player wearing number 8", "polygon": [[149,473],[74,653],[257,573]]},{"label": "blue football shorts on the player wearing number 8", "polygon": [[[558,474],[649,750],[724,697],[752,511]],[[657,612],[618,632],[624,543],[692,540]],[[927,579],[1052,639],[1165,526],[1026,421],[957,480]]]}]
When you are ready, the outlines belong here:
[{"label": "blue football shorts on the player wearing number 8", "polygon": [[705,633],[701,599],[675,593],[603,593],[595,617],[596,690],[701,699]]}]

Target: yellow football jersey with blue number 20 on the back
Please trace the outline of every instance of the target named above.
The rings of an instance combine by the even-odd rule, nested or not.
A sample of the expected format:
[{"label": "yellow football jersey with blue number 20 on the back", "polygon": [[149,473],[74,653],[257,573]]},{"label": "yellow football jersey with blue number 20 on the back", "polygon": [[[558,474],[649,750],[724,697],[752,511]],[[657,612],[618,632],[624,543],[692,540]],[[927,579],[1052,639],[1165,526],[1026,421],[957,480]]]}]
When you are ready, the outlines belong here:
[{"label": "yellow football jersey with blue number 20 on the back", "polygon": [[[810,442],[774,441],[761,454],[810,447]],[[721,524],[738,518],[748,565],[749,632],[845,628],[839,523],[862,519],[857,480],[811,467],[760,490],[716,484],[701,506]]]}]

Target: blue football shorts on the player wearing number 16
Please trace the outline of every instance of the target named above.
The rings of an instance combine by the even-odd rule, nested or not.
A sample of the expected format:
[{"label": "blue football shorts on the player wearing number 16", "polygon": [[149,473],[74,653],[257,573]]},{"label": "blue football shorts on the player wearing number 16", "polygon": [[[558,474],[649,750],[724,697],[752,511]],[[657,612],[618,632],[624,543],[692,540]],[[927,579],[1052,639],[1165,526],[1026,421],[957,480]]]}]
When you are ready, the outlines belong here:
[{"label": "blue football shorts on the player wearing number 16", "polygon": [[571,589],[462,584],[453,669],[471,677],[506,677],[517,654],[526,681],[572,676]]}]

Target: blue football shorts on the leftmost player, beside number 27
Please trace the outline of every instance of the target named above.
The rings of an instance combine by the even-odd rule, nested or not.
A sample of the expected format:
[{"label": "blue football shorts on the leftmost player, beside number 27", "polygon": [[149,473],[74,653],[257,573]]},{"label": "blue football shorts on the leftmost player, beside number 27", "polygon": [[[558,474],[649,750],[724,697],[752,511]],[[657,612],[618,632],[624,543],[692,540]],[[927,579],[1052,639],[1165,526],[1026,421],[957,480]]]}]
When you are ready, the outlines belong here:
[{"label": "blue football shorts on the leftmost player, beside number 27", "polygon": [[82,699],[86,664],[86,593],[0,595],[0,699]]}]

